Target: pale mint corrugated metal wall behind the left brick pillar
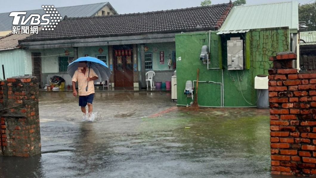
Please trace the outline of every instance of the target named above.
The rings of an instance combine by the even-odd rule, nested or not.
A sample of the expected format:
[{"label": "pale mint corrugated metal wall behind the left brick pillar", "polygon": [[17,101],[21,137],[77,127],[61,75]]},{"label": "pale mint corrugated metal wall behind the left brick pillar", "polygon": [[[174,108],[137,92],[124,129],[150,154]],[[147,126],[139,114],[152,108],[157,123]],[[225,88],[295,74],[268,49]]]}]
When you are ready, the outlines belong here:
[{"label": "pale mint corrugated metal wall behind the left brick pillar", "polygon": [[0,51],[0,78],[3,78],[2,65],[4,65],[5,77],[32,74],[31,53],[23,49]]}]

